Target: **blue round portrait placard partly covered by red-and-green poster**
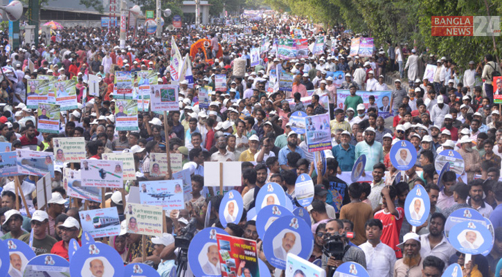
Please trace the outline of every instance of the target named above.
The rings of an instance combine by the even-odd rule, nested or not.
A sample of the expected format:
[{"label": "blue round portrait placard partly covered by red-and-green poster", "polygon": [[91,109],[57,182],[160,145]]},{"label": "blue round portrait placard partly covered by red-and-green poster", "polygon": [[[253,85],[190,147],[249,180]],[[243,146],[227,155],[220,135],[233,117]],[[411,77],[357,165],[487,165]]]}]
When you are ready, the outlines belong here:
[{"label": "blue round portrait placard partly covered by red-and-green poster", "polygon": [[188,265],[197,277],[221,277],[216,234],[228,235],[219,228],[205,228],[192,238],[188,247]]}]

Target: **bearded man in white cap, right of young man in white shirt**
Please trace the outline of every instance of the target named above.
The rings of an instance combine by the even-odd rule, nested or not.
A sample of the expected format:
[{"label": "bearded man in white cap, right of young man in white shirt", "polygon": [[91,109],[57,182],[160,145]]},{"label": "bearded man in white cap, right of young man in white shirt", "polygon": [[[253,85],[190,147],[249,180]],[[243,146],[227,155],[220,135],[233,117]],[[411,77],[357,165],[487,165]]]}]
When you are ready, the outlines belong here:
[{"label": "bearded man in white cap, right of young man in white shirt", "polygon": [[398,245],[402,247],[403,258],[397,260],[394,265],[395,277],[422,277],[422,263],[424,259],[420,256],[420,237],[416,233],[407,233],[403,237],[403,242]]}]

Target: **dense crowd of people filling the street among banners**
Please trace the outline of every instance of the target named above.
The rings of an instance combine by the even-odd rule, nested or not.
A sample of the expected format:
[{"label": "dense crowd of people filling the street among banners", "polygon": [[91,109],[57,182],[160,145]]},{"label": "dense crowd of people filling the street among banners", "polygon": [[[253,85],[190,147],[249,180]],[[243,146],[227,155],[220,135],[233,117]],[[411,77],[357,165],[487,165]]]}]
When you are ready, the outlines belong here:
[{"label": "dense crowd of people filling the street among banners", "polygon": [[[166,32],[161,39],[129,36],[125,48],[118,46],[118,34],[113,29],[82,27],[60,30],[51,40],[42,39],[38,45],[9,46],[9,51],[7,42],[2,43],[0,64],[12,68],[18,82],[4,75],[0,83],[0,141],[12,143],[12,151],[53,152],[54,139],[83,137],[89,159],[101,159],[102,154],[116,151],[132,152],[136,180],[127,182],[124,189],[108,189],[103,204],[87,201],[84,205],[81,199],[69,203],[62,184],[63,170],[55,165],[52,198],[43,210],[37,206],[35,177],[21,178],[27,202],[40,208],[27,217],[16,209],[16,202],[21,200],[17,199],[13,177],[3,177],[0,239],[28,242],[33,230],[37,255],[55,253],[68,259],[69,241],[74,238],[80,242],[82,235],[78,212],[84,206],[115,206],[124,220],[123,196],[127,203],[130,187],[138,186],[139,181],[170,179],[149,172],[152,155],[169,151],[181,154],[183,169],[190,170],[191,199],[185,209],[166,216],[168,234],[147,238],[146,256],[141,235],[124,233],[109,238],[124,263],[150,262],[161,276],[170,276],[176,270],[174,260],[179,252],[174,240],[164,237],[179,235],[193,218],[197,220],[197,231],[201,231],[207,213],[209,226],[223,229],[219,222],[223,195],[204,186],[204,162],[241,161],[242,180],[224,186],[233,186],[242,193],[244,213],[238,224],[230,223],[224,230],[256,240],[258,256],[267,263],[271,274],[280,276],[281,271],[267,262],[256,221],[246,212],[255,206],[258,191],[269,182],[282,186],[298,205],[295,182],[298,175],[306,173],[315,184],[314,201],[305,208],[314,235],[310,262],[321,259],[323,269],[358,262],[372,277],[441,276],[448,265],[457,262],[463,276],[494,276],[502,257],[502,120],[499,105],[494,104],[494,94],[502,91],[502,81],[496,82],[498,87],[494,88],[492,78],[501,72],[494,57],[487,54],[483,61],[473,57],[476,62],[455,64],[421,47],[391,42],[375,47],[371,57],[351,56],[350,38],[354,35],[343,32],[343,28],[325,30],[306,20],[280,16],[247,24],[253,26],[252,35],[244,35],[241,26],[229,24],[199,30],[183,28]],[[260,64],[251,66],[250,49],[261,47],[261,35],[291,37],[296,28],[301,29],[309,44],[316,36],[325,35],[323,53],[284,60],[267,49],[261,53]],[[234,33],[241,34],[235,41],[230,39]],[[181,56],[189,53],[198,39],[210,39],[210,45],[192,57],[194,83],[176,82],[179,111],[169,111],[167,118],[140,112],[138,131],[117,132],[114,74],[154,70],[158,84],[174,84],[171,36]],[[233,75],[236,59],[247,62],[244,77]],[[30,71],[32,63],[34,70]],[[432,82],[420,80],[427,64],[437,65]],[[278,68],[294,74],[291,91],[274,87],[271,75]],[[345,73],[340,87],[333,78],[326,77],[328,71]],[[404,78],[407,71],[407,82],[393,79],[386,84],[386,76],[394,71],[399,78]],[[99,78],[99,96],[89,96],[91,74]],[[226,91],[215,90],[215,75],[219,74],[226,75]],[[60,80],[76,78],[78,109],[62,112],[60,134],[38,132],[37,113],[26,107],[27,82],[41,75]],[[208,109],[199,107],[201,87],[212,88]],[[337,90],[341,89],[350,91],[344,102],[337,98]],[[387,99],[390,108],[377,107],[375,99],[364,102],[357,95],[361,90],[391,91],[391,99]],[[328,102],[320,102],[320,96],[326,95]],[[305,97],[310,98],[309,102],[303,102]],[[330,113],[332,149],[323,151],[322,161],[314,152],[308,152],[305,137],[292,129],[289,116],[294,111],[303,111],[307,116]],[[389,118],[392,120],[384,118],[389,116],[393,116]],[[389,153],[401,140],[413,144],[417,160],[399,175],[400,179],[395,179],[400,170],[391,162]],[[465,164],[462,177],[447,171],[438,180],[435,160],[443,150],[455,150],[461,155]],[[371,181],[343,181],[341,174],[352,171],[363,154],[366,177]],[[321,170],[323,166],[325,170]],[[413,233],[404,216],[404,200],[418,184],[427,191],[431,206],[427,221]],[[465,254],[451,246],[444,230],[451,213],[468,207],[490,219],[494,245],[487,256],[475,255],[464,262]],[[323,251],[331,235],[349,232],[355,235],[342,238],[347,249],[343,258],[336,259]],[[190,270],[185,274],[190,276]]]}]

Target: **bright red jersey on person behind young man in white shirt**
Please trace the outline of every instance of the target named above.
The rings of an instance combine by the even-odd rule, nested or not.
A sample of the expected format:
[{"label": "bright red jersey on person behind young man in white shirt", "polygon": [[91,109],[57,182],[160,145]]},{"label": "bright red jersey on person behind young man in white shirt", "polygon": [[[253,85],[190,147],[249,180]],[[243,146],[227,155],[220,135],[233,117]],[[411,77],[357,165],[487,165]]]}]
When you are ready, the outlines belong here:
[{"label": "bright red jersey on person behind young man in white shirt", "polygon": [[404,219],[404,210],[400,207],[397,207],[396,210],[397,213],[399,213],[399,216],[397,217],[391,213],[385,213],[385,210],[380,210],[375,213],[374,218],[380,220],[384,225],[380,240],[394,249],[395,256],[399,259],[402,258],[402,251],[399,247],[397,247],[397,244],[400,244],[399,234]]}]

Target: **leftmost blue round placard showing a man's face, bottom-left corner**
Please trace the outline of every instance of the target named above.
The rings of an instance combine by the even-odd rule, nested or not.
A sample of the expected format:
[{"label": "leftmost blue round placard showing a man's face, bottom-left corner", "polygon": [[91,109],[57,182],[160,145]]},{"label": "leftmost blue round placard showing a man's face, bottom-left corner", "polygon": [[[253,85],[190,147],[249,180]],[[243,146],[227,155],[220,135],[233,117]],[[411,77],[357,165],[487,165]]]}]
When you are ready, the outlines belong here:
[{"label": "leftmost blue round placard showing a man's face, bottom-left corner", "polygon": [[[28,261],[35,258],[35,252],[33,252],[33,249],[31,249],[28,244],[21,240],[16,240],[15,238],[4,240],[3,243],[8,248],[8,259],[3,260],[2,258],[2,265],[4,263],[8,265],[9,276],[23,276]],[[1,268],[3,269],[3,266]]]}]

